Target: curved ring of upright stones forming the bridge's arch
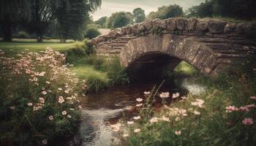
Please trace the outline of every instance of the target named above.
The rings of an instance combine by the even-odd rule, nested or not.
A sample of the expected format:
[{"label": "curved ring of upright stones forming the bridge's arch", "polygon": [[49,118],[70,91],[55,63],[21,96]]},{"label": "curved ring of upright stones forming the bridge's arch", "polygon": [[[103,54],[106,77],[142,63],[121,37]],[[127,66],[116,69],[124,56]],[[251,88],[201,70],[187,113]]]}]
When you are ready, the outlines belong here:
[{"label": "curved ring of upright stones forming the bridge's arch", "polygon": [[[201,42],[197,42],[193,37],[182,37],[173,34],[154,35],[138,37],[127,42],[121,49],[121,63],[127,68],[133,66],[138,61],[143,61],[143,56],[154,55],[169,56],[161,64],[168,65],[174,69],[180,61],[187,61],[203,74],[213,74],[216,60],[211,48]],[[146,57],[146,61],[149,61]],[[156,60],[156,59],[154,59]],[[161,64],[159,64],[161,66]],[[141,64],[140,64],[141,66]],[[212,72],[213,71],[213,72]]]}]

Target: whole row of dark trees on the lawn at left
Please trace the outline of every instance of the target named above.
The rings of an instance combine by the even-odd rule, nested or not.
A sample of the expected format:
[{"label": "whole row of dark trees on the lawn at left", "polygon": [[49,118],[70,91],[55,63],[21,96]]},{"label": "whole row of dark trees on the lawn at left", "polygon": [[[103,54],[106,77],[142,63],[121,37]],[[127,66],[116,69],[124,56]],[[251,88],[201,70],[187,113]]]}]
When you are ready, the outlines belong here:
[{"label": "whole row of dark trees on the lawn at left", "polygon": [[4,41],[12,40],[12,31],[25,30],[42,42],[44,34],[66,39],[83,39],[86,24],[101,5],[101,0],[1,0],[0,24]]}]

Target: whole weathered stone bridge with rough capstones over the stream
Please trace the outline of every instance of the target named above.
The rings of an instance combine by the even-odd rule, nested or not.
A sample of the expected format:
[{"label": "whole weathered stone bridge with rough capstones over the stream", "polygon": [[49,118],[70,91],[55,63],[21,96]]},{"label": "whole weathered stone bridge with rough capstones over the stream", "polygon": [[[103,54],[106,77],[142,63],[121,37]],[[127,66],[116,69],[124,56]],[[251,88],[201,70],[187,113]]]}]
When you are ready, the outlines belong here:
[{"label": "whole weathered stone bridge with rough capstones over the stream", "polygon": [[133,72],[148,74],[187,61],[203,74],[217,76],[237,58],[256,54],[255,23],[219,19],[169,18],[117,28],[92,39],[97,55],[119,55]]}]

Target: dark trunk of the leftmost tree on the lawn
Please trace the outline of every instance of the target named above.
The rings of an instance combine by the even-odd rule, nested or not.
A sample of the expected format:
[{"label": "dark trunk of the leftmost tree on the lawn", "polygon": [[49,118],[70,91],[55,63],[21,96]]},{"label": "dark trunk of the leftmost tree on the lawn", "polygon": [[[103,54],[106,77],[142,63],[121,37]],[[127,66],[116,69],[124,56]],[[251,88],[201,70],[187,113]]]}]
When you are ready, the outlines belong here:
[{"label": "dark trunk of the leftmost tree on the lawn", "polygon": [[10,20],[10,15],[4,16],[3,31],[4,31],[3,40],[6,42],[11,42],[12,41],[12,23]]}]

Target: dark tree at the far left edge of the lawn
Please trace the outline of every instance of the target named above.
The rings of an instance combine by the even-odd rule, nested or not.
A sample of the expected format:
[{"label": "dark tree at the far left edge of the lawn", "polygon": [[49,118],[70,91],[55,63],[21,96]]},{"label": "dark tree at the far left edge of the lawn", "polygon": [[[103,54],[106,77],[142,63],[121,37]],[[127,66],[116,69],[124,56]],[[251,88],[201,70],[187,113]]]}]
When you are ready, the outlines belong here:
[{"label": "dark tree at the far left edge of the lawn", "polygon": [[12,41],[12,27],[29,19],[29,0],[1,0],[0,23],[3,40]]}]

